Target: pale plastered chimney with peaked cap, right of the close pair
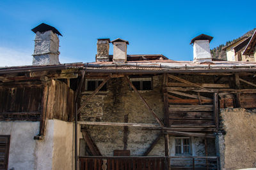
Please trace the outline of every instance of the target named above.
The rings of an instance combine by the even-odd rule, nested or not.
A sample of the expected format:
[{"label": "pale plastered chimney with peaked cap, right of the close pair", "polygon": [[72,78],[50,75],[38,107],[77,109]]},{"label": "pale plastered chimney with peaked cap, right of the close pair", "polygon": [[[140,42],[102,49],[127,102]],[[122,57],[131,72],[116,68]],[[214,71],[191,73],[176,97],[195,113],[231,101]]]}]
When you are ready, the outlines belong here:
[{"label": "pale plastered chimney with peaked cap, right of the close pair", "polygon": [[129,45],[129,42],[118,38],[111,41],[111,43],[113,43],[114,46],[113,62],[116,64],[124,64],[127,61],[127,45]]}]

